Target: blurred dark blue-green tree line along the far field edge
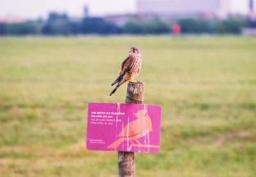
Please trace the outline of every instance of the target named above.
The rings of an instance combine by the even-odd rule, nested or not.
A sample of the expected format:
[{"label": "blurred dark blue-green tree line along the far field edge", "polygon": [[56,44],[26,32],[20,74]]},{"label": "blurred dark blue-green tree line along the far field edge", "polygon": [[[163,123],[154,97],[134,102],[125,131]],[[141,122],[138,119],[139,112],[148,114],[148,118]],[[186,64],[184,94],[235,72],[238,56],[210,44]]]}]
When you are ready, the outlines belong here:
[{"label": "blurred dark blue-green tree line along the far field edge", "polygon": [[[183,33],[239,34],[243,27],[255,27],[255,21],[242,17],[226,20],[184,18],[177,20]],[[47,20],[29,20],[15,24],[0,23],[0,35],[76,35],[76,34],[168,34],[172,23],[159,18],[131,17],[123,26],[115,25],[105,18],[84,17],[70,19],[66,14],[49,13]]]}]

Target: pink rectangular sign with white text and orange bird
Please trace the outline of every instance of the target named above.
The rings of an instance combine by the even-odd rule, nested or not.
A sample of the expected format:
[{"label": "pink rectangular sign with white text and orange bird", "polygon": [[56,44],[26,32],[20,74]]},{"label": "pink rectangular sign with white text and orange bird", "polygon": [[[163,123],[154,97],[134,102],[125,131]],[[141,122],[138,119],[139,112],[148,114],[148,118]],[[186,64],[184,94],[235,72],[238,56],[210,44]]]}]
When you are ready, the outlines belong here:
[{"label": "pink rectangular sign with white text and orange bird", "polygon": [[88,150],[159,152],[161,106],[89,103]]}]

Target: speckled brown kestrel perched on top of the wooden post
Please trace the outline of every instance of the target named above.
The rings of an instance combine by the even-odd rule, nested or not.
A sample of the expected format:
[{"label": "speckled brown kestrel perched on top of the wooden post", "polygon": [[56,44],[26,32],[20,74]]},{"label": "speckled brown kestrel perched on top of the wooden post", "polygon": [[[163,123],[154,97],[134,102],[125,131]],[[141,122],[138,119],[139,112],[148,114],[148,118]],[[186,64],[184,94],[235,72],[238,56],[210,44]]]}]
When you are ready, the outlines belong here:
[{"label": "speckled brown kestrel perched on top of the wooden post", "polygon": [[141,52],[140,48],[137,46],[131,46],[129,48],[129,55],[121,64],[121,71],[118,77],[111,83],[111,86],[116,85],[114,90],[111,92],[109,96],[115,93],[118,87],[125,83],[125,81],[138,82],[134,81],[134,78],[138,76],[141,69]]}]

